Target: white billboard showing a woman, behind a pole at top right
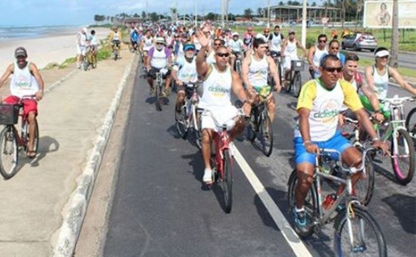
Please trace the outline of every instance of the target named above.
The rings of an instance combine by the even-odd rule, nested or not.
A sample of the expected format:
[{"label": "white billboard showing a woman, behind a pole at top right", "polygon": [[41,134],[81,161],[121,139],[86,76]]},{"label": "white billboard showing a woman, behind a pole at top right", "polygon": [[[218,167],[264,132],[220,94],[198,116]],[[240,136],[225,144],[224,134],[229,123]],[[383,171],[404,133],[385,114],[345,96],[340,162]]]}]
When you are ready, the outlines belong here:
[{"label": "white billboard showing a woman, behind a pole at top right", "polygon": [[[399,28],[416,28],[416,0],[400,0]],[[364,2],[364,28],[391,28],[393,19],[392,0],[367,0]]]}]

